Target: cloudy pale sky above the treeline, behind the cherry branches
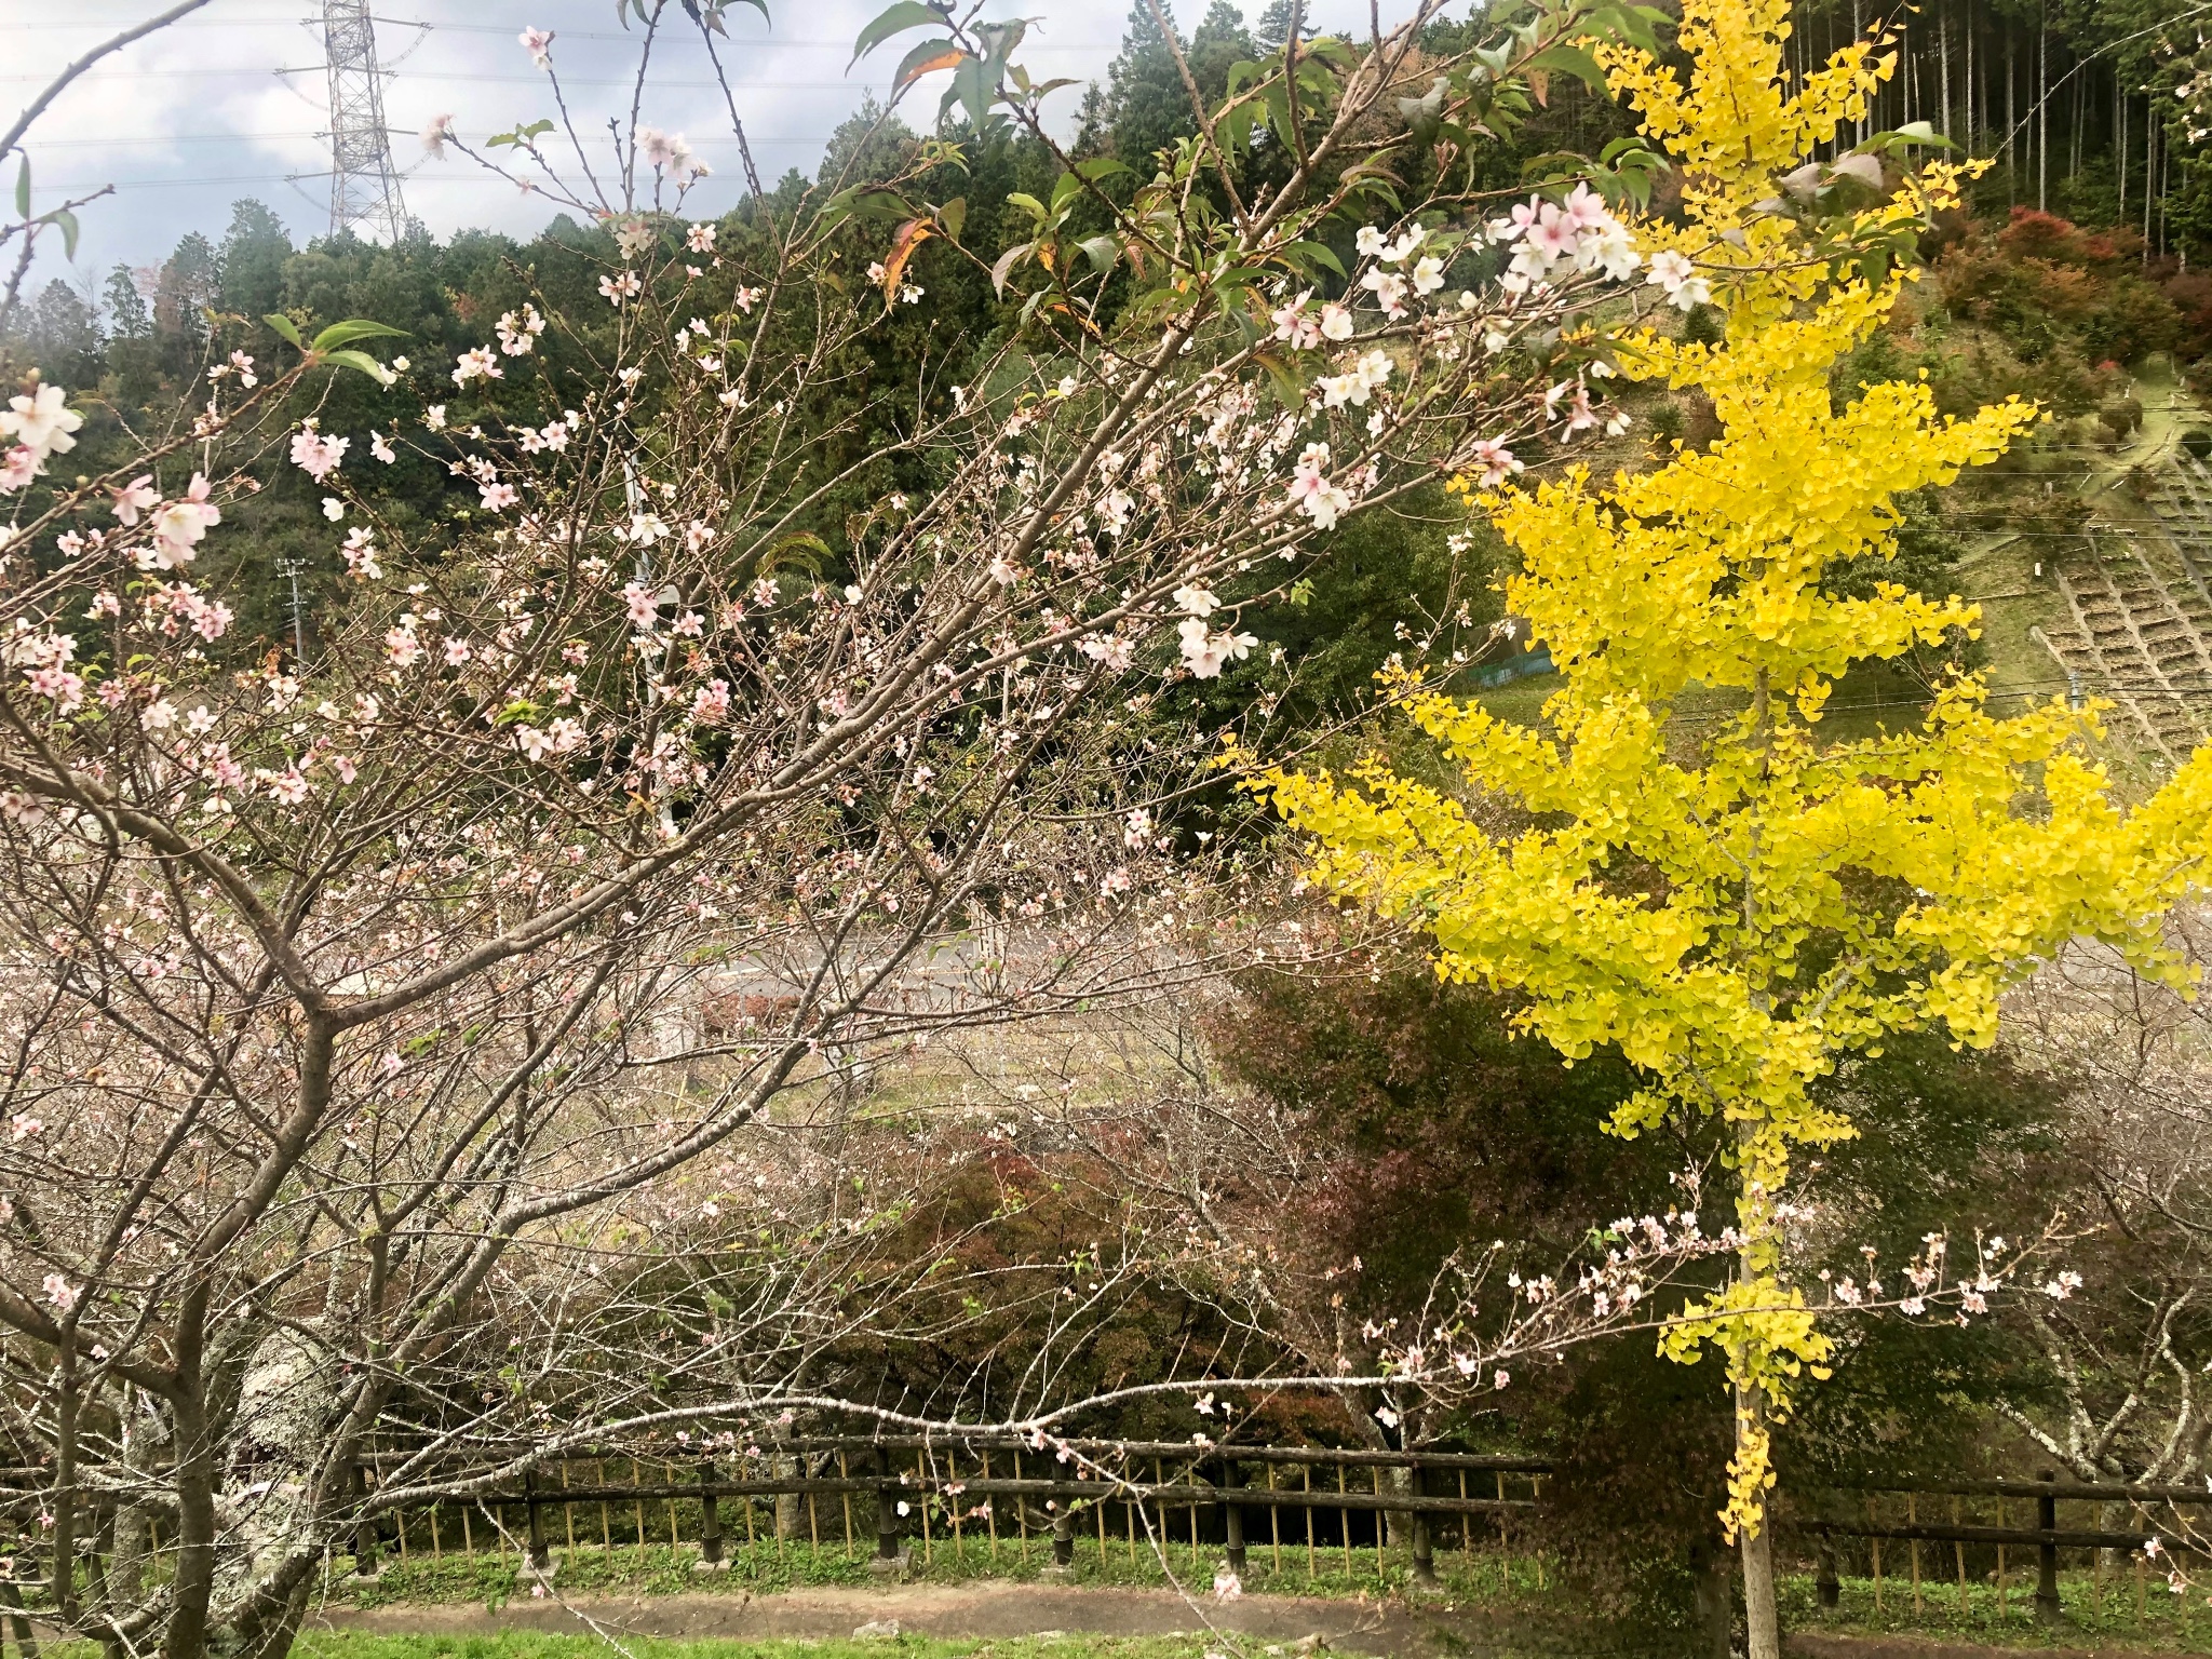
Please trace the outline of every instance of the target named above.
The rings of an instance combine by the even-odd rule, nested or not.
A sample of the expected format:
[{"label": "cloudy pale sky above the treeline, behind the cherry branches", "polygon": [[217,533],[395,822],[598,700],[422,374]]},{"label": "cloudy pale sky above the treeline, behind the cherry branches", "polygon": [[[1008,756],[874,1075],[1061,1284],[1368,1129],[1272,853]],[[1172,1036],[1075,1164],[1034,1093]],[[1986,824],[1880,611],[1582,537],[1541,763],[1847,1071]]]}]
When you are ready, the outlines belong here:
[{"label": "cloudy pale sky above the treeline, behind the cherry branches", "polygon": [[[847,73],[854,35],[883,4],[770,0],[770,24],[750,7],[732,7],[723,64],[765,179],[792,166],[812,173],[830,131],[872,86],[885,91],[900,44]],[[1256,18],[1263,4],[1245,0],[1243,9]],[[62,64],[159,7],[0,0],[0,108],[20,108]],[[1385,18],[1400,9],[1402,0],[1383,7]],[[1203,0],[1179,0],[1177,11],[1188,29]],[[66,276],[93,288],[117,263],[157,263],[188,230],[221,234],[239,197],[274,208],[294,239],[327,230],[330,113],[321,31],[305,22],[312,13],[321,13],[321,0],[215,0],[75,82],[29,137],[35,206],[104,184],[115,192],[82,215],[75,265],[64,265],[60,241],[46,239],[35,283]],[[1002,0],[991,13],[1035,20],[1024,46],[1031,73],[1104,80],[1128,0]],[[1310,13],[1325,29],[1365,27],[1367,4],[1314,0]],[[580,128],[604,135],[608,115],[628,108],[639,35],[622,31],[613,0],[376,0],[374,15],[407,210],[440,237],[471,226],[529,234],[551,217],[542,199],[467,161],[429,159],[414,137],[440,113],[451,113],[456,131],[471,139],[553,115],[546,77],[515,44],[522,27],[557,31],[555,66]],[[916,95],[916,115],[936,111],[936,82],[942,77]],[[717,175],[695,204],[719,212],[737,199],[743,170],[697,31],[675,29],[655,46],[646,84],[644,119],[688,135]],[[1077,95],[1068,88],[1057,97],[1068,122]]]}]

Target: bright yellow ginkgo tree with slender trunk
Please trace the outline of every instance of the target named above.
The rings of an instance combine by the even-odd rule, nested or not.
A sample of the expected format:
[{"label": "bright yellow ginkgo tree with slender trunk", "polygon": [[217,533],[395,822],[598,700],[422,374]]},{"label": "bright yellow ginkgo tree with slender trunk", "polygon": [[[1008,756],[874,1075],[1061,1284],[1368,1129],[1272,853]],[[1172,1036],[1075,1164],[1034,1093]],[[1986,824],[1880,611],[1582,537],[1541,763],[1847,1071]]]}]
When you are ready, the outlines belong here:
[{"label": "bright yellow ginkgo tree with slender trunk", "polygon": [[[1978,624],[1960,599],[1896,584],[1845,597],[1834,577],[1893,555],[1900,493],[1997,458],[2039,416],[2011,400],[1942,418],[1918,380],[1832,398],[1836,363],[1918,276],[1869,248],[1909,248],[1960,173],[1929,166],[1885,197],[1869,159],[1807,168],[1893,60],[1858,42],[1792,93],[1785,38],[1785,0],[1688,0],[1688,84],[1639,51],[1601,53],[1683,177],[1681,223],[1641,226],[1641,246],[1677,283],[1694,268],[1728,316],[1719,345],[1650,330],[1610,345],[1626,376],[1710,396],[1721,436],[1610,484],[1575,469],[1480,498],[1520,553],[1506,604],[1564,681],[1544,723],[1418,695],[1409,714],[1464,792],[1380,763],[1265,783],[1314,838],[1314,876],[1422,929],[1438,973],[1517,993],[1520,1022],[1568,1057],[1626,1055],[1644,1088],[1615,1133],[1670,1113],[1728,1124],[1734,1274],[1663,1345],[1728,1363],[1723,1520],[1754,1659],[1778,1650],[1767,1425],[1829,1356],[1774,1214],[1792,1155],[1854,1135],[1818,1082],[1900,1031],[1989,1044],[2004,989],[2070,938],[2179,982],[2161,918],[2212,854],[2212,750],[2130,807],[2093,759],[2093,708],[2002,719],[1960,675],[1918,726],[1825,741],[1823,706],[1854,664]],[[1836,179],[1865,195],[1860,212],[1787,210],[1814,190],[1847,197]],[[1745,708],[1672,719],[1692,686]],[[1478,818],[1498,814],[1473,801],[1531,827],[1493,834]]]}]

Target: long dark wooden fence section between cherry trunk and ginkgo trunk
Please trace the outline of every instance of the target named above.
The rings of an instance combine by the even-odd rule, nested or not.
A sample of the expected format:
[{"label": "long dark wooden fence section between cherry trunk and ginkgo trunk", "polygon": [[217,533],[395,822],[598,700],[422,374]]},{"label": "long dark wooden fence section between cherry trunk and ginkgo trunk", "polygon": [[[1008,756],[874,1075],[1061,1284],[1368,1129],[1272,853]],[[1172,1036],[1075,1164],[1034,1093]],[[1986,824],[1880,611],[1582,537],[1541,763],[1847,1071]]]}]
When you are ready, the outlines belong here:
[{"label": "long dark wooden fence section between cherry trunk and ginkgo trunk", "polygon": [[[1248,1526],[1281,1568],[1285,1551],[1323,1557],[1371,1553],[1376,1571],[1398,1548],[1416,1579],[1436,1577],[1436,1551],[1478,1544],[1511,1551],[1537,1506],[1546,1458],[1444,1449],[1261,1447],[1190,1440],[1051,1440],[1018,1436],[807,1438],[752,1444],[703,1436],[650,1449],[577,1444],[544,1453],[524,1442],[462,1447],[380,1444],[356,1467],[354,1571],[374,1575],[389,1535],[403,1557],[434,1553],[460,1533],[462,1553],[515,1551],[553,1564],[553,1526],[566,1548],[599,1544],[695,1546],[699,1566],[723,1562],[730,1522],[750,1544],[803,1537],[880,1564],[933,1551],[982,1548],[998,1559],[1033,1544],[1071,1566],[1086,1533],[1104,1566],[1119,1544],[1135,1564],[1155,1544],[1219,1548],[1248,1566]],[[628,1478],[624,1478],[628,1475]],[[1259,1475],[1265,1475],[1261,1480]],[[726,1517],[723,1511],[737,1511]],[[520,1515],[522,1524],[513,1526]],[[582,1535],[577,1522],[582,1517]],[[458,1522],[458,1528],[456,1528]],[[482,1526],[478,1526],[482,1522]],[[597,1533],[597,1537],[593,1537]],[[1511,1555],[1509,1566],[1511,1571]],[[1542,1562],[1535,1564],[1542,1577]]]}]

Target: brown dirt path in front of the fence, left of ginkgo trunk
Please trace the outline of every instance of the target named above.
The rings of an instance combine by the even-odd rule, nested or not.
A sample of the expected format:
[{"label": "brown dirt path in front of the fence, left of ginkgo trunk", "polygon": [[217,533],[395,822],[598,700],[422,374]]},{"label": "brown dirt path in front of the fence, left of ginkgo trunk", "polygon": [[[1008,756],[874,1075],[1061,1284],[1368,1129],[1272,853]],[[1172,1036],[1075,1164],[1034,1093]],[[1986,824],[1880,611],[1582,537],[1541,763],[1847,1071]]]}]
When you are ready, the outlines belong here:
[{"label": "brown dirt path in front of the fence, left of ginkgo trunk", "polygon": [[1230,1604],[1197,1606],[1172,1590],[1064,1588],[1051,1584],[900,1584],[880,1590],[803,1588],[781,1595],[639,1595],[571,1597],[566,1604],[518,1597],[498,1610],[484,1606],[332,1608],[319,1621],[336,1630],[387,1635],[489,1635],[495,1630],[582,1632],[604,1626],[641,1637],[849,1637],[863,1624],[898,1619],[900,1630],[931,1637],[1026,1637],[1051,1630],[1097,1635],[1203,1637],[1208,1628],[1234,1630],[1267,1644],[1321,1637],[1343,1652],[1387,1659],[1433,1659],[1451,1652],[1482,1659],[1500,1652],[1577,1652],[1515,1628],[1498,1617],[1460,1613],[1449,1604],[1321,1601],[1245,1595]]}]

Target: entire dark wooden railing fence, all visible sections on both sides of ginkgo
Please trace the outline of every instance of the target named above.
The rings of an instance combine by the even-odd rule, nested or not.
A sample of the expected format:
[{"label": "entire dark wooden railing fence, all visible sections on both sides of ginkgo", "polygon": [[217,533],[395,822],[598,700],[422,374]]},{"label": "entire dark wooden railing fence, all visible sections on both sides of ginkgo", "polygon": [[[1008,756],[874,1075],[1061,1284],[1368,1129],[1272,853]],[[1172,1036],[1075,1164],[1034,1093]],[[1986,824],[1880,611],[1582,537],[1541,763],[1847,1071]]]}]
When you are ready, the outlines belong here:
[{"label": "entire dark wooden railing fence, all visible sections on both sides of ginkgo", "polygon": [[[44,1473],[0,1469],[0,1509],[62,1493],[42,1484]],[[1095,1551],[1102,1577],[1144,1571],[1146,1559],[1201,1575],[1219,1562],[1241,1575],[1256,1548],[1274,1573],[1303,1566],[1307,1582],[1327,1573],[1436,1584],[1438,1562],[1458,1555],[1462,1573],[1500,1573],[1511,1584],[1520,1571],[1542,1588],[1546,1553],[1535,1522],[1555,1464],[1444,1447],[1004,1433],[779,1440],[701,1425],[684,1440],[648,1444],[383,1436],[349,1467],[325,1473],[338,1482],[334,1566],[347,1571],[349,1542],[349,1568],[361,1577],[376,1577],[392,1559],[489,1555],[507,1562],[502,1573],[557,1575],[568,1557],[584,1577],[717,1571],[732,1566],[737,1548],[748,1571],[761,1571],[763,1553],[801,1551],[803,1559],[810,1548],[896,1573],[940,1555],[956,1566],[995,1566],[1002,1555],[1035,1564],[1035,1551],[1046,1551],[1048,1568],[1073,1568],[1077,1551]],[[148,1555],[173,1548],[168,1480],[164,1467],[80,1467],[69,1491],[100,1537],[95,1555],[115,1548],[124,1513],[146,1528],[139,1546]],[[2166,1551],[2201,1553],[2194,1520],[2177,1522],[2201,1513],[2192,1506],[2212,1506],[2212,1489],[2048,1473],[1869,1475],[1792,1491],[1774,1520],[1812,1555],[1823,1606],[1838,1606],[1849,1571],[1860,1582],[1871,1575],[1876,1608],[1900,1579],[1916,1610],[1938,1588],[1949,1599],[1955,1579],[1960,1617],[1969,1590],[1986,1610],[1993,1588],[2002,1619],[2008,1597],[2028,1588],[2033,1553],[2033,1610],[2057,1617],[2062,1557],[2073,1553],[2079,1564],[2086,1553],[2099,1608],[2108,1575],[2132,1566],[2141,1621],[2143,1546],[2157,1540]],[[1170,1566],[1170,1546],[1188,1568]],[[604,1551],[597,1564],[593,1551]],[[18,1579],[31,1582],[22,1566]]]}]

